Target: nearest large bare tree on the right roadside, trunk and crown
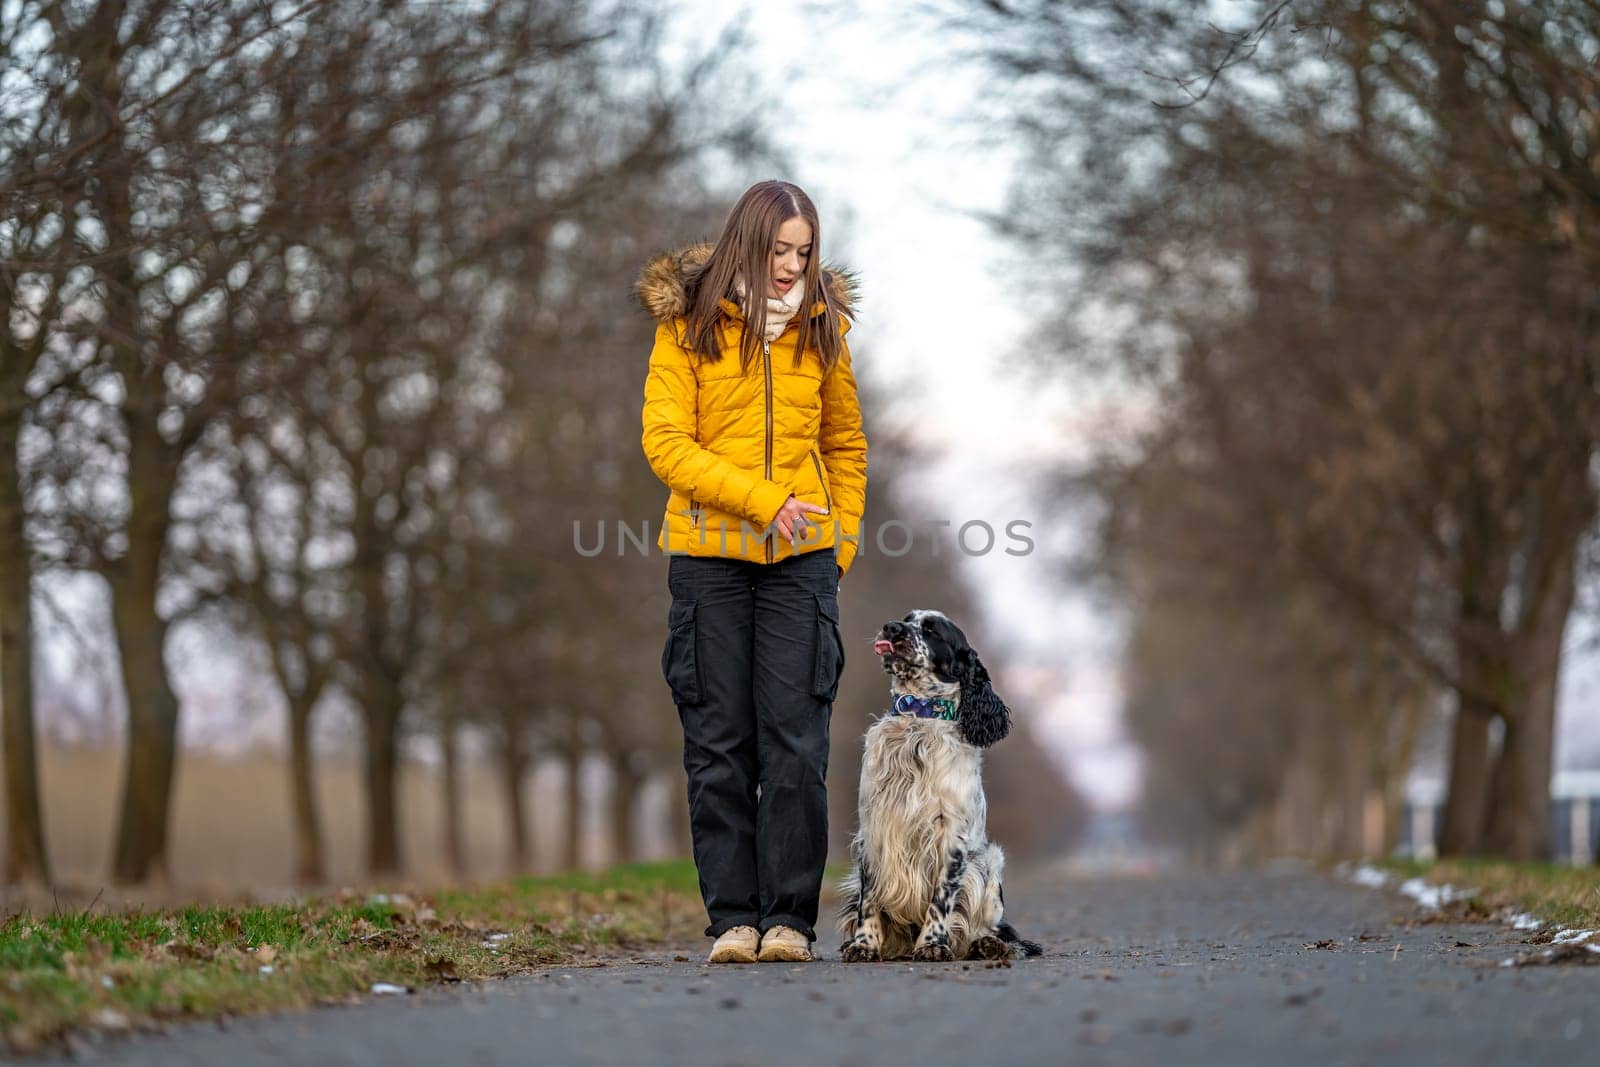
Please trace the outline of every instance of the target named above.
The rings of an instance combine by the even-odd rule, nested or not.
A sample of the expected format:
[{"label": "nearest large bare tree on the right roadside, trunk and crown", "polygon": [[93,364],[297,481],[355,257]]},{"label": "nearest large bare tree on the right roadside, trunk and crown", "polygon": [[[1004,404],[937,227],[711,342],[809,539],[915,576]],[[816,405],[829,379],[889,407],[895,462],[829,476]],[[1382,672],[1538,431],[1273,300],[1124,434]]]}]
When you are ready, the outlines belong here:
[{"label": "nearest large bare tree on the right roadside, trunk and crown", "polygon": [[963,16],[1030,78],[1038,166],[1003,224],[1070,250],[1072,299],[1128,326],[1104,365],[1165,403],[1134,453],[1203,450],[1237,545],[1456,694],[1445,848],[1538,857],[1595,512],[1600,19],[1467,8]]}]

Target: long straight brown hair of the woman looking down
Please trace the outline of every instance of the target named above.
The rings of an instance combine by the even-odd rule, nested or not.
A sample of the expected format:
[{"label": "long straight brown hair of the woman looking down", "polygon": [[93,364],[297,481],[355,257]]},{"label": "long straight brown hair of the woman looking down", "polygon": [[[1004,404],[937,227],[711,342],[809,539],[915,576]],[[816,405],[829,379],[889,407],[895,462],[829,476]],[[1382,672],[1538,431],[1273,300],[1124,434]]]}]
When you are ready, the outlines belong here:
[{"label": "long straight brown hair of the woman looking down", "polygon": [[[688,330],[686,341],[701,358],[722,358],[723,307],[722,299],[738,302],[734,278],[744,278],[746,294],[741,312],[744,330],[739,338],[739,370],[749,370],[762,347],[766,330],[766,283],[778,227],[792,218],[802,218],[811,227],[811,254],[805,262],[805,307],[795,315],[800,320],[800,338],[795,342],[795,366],[808,347],[822,358],[822,373],[832,370],[843,349],[838,328],[838,304],[835,294],[822,283],[822,229],[816,221],[816,205],[800,186],[786,181],[762,181],[744,190],[739,202],[723,222],[722,237],[701,269],[688,280]],[[826,304],[819,317],[811,315],[818,301]]]}]

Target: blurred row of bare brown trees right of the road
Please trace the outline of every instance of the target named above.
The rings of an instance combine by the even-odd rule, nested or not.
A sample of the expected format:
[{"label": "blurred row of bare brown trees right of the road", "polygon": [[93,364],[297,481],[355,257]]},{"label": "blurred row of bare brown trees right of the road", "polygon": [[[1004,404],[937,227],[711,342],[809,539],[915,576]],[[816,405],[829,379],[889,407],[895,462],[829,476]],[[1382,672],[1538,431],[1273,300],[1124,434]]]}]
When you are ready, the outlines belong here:
[{"label": "blurred row of bare brown trees right of the road", "polygon": [[1443,720],[1442,851],[1547,857],[1592,574],[1600,6],[949,14],[1030,146],[997,224],[1054,267],[1034,347],[1142,403],[1077,488],[1152,827],[1376,851]]}]

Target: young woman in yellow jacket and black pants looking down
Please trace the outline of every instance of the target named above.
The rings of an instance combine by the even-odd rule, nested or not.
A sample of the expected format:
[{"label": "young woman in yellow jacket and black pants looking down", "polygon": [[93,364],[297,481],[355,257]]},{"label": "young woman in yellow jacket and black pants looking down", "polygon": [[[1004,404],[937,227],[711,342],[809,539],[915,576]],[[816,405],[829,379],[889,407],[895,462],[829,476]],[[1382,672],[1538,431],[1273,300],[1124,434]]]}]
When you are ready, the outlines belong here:
[{"label": "young woman in yellow jacket and black pants looking down", "polygon": [[643,446],[670,490],[661,667],[712,963],[810,960],[816,939],[838,581],[867,485],[854,282],[819,248],[811,198],[765,181],[715,245],[658,256],[637,285],[658,323]]}]

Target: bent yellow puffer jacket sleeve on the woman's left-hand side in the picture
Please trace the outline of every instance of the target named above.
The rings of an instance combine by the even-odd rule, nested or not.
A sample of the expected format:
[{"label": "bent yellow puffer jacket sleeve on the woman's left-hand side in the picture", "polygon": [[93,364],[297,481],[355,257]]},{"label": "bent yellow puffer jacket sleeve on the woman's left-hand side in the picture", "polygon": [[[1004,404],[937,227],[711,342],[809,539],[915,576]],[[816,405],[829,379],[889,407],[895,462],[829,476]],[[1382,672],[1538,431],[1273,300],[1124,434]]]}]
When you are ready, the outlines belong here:
[{"label": "bent yellow puffer jacket sleeve on the woman's left-hand side in the picture", "polygon": [[656,325],[645,379],[645,458],[667,488],[765,530],[790,490],[701,448],[694,438],[699,382],[670,322]]}]

